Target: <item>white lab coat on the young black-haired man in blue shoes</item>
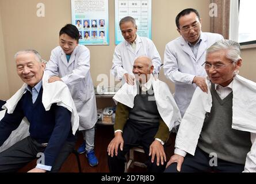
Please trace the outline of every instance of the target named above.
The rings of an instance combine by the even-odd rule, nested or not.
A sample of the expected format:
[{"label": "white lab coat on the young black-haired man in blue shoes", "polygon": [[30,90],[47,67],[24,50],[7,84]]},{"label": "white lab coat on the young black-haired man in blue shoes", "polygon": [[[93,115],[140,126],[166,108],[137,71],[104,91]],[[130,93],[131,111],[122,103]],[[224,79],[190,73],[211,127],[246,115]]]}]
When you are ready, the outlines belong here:
[{"label": "white lab coat on the young black-haired man in blue shoes", "polygon": [[78,45],[67,62],[60,46],[52,50],[44,75],[59,76],[70,89],[79,114],[79,130],[93,128],[97,122],[97,108],[93,81],[90,76],[90,51]]}]

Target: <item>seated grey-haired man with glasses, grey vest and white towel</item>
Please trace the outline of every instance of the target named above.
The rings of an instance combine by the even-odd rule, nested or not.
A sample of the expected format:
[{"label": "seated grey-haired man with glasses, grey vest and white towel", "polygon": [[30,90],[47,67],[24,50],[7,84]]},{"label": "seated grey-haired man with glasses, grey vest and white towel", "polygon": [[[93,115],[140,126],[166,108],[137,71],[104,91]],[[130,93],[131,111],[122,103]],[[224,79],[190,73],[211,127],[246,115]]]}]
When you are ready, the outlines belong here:
[{"label": "seated grey-haired man with glasses, grey vest and white towel", "polygon": [[256,83],[238,75],[241,65],[235,41],[207,49],[208,93],[197,87],[165,172],[255,172]]}]

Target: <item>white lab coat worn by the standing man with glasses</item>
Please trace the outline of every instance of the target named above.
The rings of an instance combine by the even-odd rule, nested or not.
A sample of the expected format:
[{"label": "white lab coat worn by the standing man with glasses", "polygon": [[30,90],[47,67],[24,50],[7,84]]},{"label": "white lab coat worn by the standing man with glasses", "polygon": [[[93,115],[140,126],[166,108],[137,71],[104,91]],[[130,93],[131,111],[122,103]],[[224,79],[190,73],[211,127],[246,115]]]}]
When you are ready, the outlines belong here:
[{"label": "white lab coat worn by the standing man with glasses", "polygon": [[206,50],[223,36],[216,33],[202,33],[197,57],[183,37],[170,41],[165,48],[163,71],[166,78],[175,83],[174,99],[184,116],[189,106],[196,84],[192,84],[194,76],[206,76],[204,67]]}]

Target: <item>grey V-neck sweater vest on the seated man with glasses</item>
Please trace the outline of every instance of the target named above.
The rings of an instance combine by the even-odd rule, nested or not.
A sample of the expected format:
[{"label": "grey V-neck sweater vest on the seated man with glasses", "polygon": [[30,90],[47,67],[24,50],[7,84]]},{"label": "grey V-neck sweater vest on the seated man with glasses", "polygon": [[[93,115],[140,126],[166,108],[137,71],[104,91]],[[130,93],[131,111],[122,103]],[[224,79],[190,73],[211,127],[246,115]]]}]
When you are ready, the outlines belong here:
[{"label": "grey V-neck sweater vest on the seated man with glasses", "polygon": [[233,93],[221,100],[212,84],[211,94],[212,109],[205,114],[198,147],[208,154],[216,153],[218,159],[244,164],[251,148],[250,133],[231,128]]}]

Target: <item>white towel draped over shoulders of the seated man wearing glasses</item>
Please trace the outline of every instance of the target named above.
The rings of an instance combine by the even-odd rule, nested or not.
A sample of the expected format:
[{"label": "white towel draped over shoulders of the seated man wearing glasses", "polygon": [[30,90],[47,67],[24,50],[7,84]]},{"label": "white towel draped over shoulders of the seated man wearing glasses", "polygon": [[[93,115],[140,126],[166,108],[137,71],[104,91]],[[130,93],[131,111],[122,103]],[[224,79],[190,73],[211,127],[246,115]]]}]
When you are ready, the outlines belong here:
[{"label": "white towel draped over shoulders of the seated man wearing glasses", "polygon": [[[206,81],[208,91],[211,91],[211,82]],[[236,75],[232,85],[232,128],[251,132],[253,146],[247,154],[244,171],[256,172],[256,83],[242,76]],[[198,139],[204,124],[205,113],[211,112],[211,92],[204,93],[197,87],[192,101],[186,110],[175,140],[175,154],[185,156],[194,155]]]}]

